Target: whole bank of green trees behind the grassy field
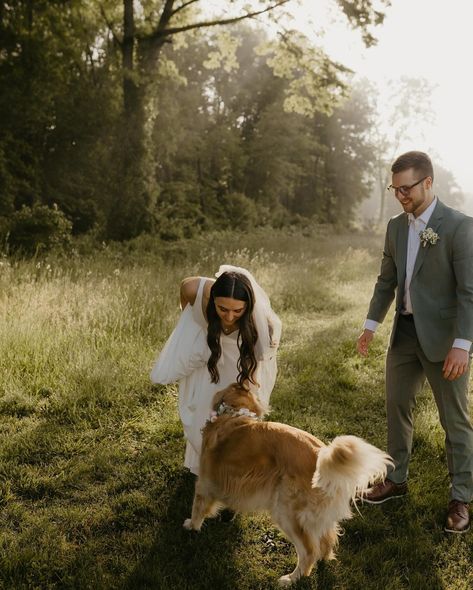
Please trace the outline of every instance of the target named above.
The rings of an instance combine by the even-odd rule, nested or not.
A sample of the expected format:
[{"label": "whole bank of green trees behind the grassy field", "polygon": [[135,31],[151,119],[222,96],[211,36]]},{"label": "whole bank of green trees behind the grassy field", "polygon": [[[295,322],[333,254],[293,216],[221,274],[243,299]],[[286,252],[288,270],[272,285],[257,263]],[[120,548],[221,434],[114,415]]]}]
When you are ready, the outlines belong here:
[{"label": "whole bank of green trees behind the grassy field", "polygon": [[[244,3],[225,4],[224,21],[245,14]],[[368,0],[341,4],[363,31],[377,22]],[[365,187],[358,174],[339,207],[348,193],[330,162],[345,140],[353,162],[366,157],[364,122],[357,142],[335,115],[346,69],[294,31],[200,27],[200,5],[0,2],[0,217],[55,202],[75,235],[175,240],[351,216]],[[185,197],[171,197],[179,184]]]}]

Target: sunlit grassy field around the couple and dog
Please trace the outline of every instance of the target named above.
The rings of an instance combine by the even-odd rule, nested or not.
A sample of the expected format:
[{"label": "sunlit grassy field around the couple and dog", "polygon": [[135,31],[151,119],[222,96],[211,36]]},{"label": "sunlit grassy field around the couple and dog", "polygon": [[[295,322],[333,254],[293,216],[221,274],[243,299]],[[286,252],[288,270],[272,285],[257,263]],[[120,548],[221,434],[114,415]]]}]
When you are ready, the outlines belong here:
[{"label": "sunlit grassy field around the couple and dog", "polygon": [[[210,244],[210,245],[209,245]],[[182,528],[193,476],[176,386],[149,370],[178,317],[178,285],[249,268],[280,314],[271,419],[329,441],[385,444],[384,350],[355,352],[380,236],[261,232],[67,257],[0,259],[0,588],[276,588],[295,552],[265,515]],[[443,533],[448,475],[431,394],[418,400],[410,495],[362,506],[338,561],[298,589],[467,590],[472,535]]]}]

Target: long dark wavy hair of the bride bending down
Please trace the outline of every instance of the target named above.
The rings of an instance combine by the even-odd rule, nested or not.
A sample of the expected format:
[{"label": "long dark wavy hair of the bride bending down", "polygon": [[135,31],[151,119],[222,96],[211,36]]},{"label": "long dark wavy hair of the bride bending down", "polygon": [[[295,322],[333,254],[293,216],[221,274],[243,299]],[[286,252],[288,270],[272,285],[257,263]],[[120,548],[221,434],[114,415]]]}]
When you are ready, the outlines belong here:
[{"label": "long dark wavy hair of the bride bending down", "polygon": [[238,359],[237,381],[244,385],[245,381],[257,385],[254,379],[254,373],[257,367],[255,356],[255,344],[258,340],[258,332],[253,322],[253,307],[255,305],[255,295],[250,281],[245,275],[236,272],[222,273],[210,289],[210,298],[207,304],[207,343],[210,348],[210,358],[207,367],[211,376],[212,383],[218,383],[220,375],[217,369],[217,362],[222,354],[220,345],[220,335],[222,324],[215,309],[215,297],[230,297],[246,303],[245,311],[238,319],[238,350],[240,358]]}]

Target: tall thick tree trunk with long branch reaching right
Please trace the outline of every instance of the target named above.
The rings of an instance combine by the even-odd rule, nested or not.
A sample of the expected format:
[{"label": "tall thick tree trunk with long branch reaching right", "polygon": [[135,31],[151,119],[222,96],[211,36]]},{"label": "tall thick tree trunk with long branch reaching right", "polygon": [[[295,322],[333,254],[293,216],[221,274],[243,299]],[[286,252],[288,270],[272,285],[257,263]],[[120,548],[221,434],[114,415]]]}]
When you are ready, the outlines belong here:
[{"label": "tall thick tree trunk with long branch reaching right", "polygon": [[[179,32],[194,28],[236,23],[273,10],[288,0],[280,0],[267,8],[247,12],[239,17],[201,21],[170,27],[176,13],[197,0],[187,0],[175,8],[175,0],[164,0],[164,6],[155,30],[146,37],[137,38],[134,25],[133,0],[123,0],[123,130],[117,146],[117,178],[113,188],[114,204],[108,220],[108,235],[127,239],[150,229],[153,206],[158,194],[156,171],[148,114],[155,100],[153,82],[161,49],[166,41]],[[135,47],[135,45],[138,45]]]}]

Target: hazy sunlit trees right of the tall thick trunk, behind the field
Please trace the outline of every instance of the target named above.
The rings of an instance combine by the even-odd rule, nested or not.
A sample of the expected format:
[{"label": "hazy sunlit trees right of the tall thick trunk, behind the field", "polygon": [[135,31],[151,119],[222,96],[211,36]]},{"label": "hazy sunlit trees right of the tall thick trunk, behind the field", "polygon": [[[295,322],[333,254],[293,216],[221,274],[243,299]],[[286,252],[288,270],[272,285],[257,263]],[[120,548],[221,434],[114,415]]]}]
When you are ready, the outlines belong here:
[{"label": "hazy sunlit trees right of the tall thick trunk, behind the field", "polygon": [[[332,96],[340,101],[339,106],[332,103],[331,115],[313,116],[314,110],[310,117],[287,112],[291,76],[307,81],[308,72],[303,76],[302,70],[310,70],[308,63],[315,57],[308,55],[293,72],[298,62],[292,56],[292,66],[286,71],[286,40],[279,48],[272,43],[263,51],[265,38],[260,32],[240,27],[234,35],[241,38],[237,71],[220,68],[209,74],[204,67],[195,70],[193,64],[203,63],[207,56],[206,40],[193,41],[197,51],[192,55],[174,52],[178,70],[189,74],[185,90],[179,81],[159,89],[162,111],[155,120],[157,160],[161,176],[169,179],[162,187],[169,182],[188,187],[189,214],[198,228],[203,226],[200,215],[206,227],[251,224],[255,210],[258,224],[276,227],[298,215],[348,223],[369,189],[366,172],[373,153],[367,129],[372,121],[366,98],[357,94],[341,100],[335,92],[341,83],[324,69],[329,64],[318,53],[319,68],[311,79],[313,88],[318,88],[319,102],[312,104],[315,111],[325,110],[322,102],[328,108]],[[246,221],[232,219],[238,209],[231,211],[226,203],[235,194],[256,205]],[[162,192],[158,216],[163,199],[166,201]],[[248,212],[249,206],[244,205]],[[181,225],[181,218],[176,217],[176,226]],[[179,227],[173,231],[183,235]]]}]

